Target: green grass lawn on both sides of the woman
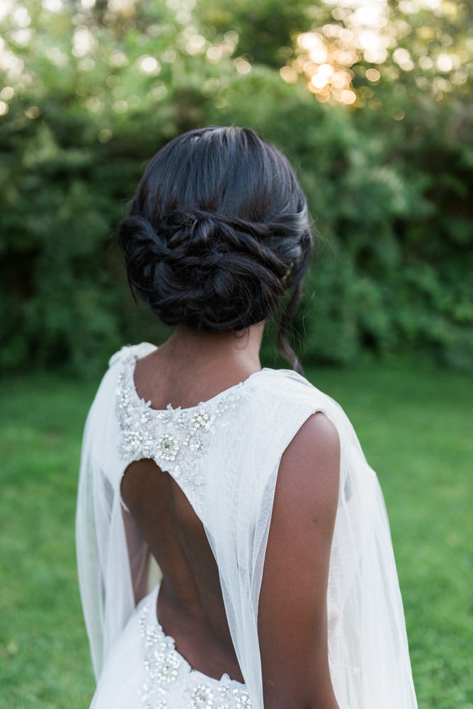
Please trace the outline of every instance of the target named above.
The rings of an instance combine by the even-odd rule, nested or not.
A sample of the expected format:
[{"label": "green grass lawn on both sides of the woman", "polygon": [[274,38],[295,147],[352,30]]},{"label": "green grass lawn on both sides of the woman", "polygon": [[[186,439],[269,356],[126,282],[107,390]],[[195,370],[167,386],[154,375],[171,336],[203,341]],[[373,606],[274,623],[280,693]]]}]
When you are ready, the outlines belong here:
[{"label": "green grass lawn on both sides of the woman", "polygon": [[[419,706],[473,709],[472,380],[379,364],[307,375],[346,409],[380,477]],[[82,709],[93,692],[74,509],[81,430],[95,387],[53,374],[1,385],[6,709]]]}]

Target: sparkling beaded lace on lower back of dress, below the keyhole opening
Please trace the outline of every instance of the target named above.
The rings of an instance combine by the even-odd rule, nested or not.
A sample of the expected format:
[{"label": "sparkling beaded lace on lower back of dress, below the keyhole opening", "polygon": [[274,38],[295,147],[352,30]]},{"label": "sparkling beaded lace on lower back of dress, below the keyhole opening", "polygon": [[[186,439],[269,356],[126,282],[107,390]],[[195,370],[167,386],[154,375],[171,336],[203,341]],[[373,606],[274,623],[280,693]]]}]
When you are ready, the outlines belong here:
[{"label": "sparkling beaded lace on lower back of dress, below the keyhole opening", "polygon": [[[144,648],[143,709],[251,709],[246,687],[224,675],[220,681],[194,670],[165,635],[154,615],[156,594],[150,594],[139,616]],[[179,696],[181,695],[181,696]]]}]

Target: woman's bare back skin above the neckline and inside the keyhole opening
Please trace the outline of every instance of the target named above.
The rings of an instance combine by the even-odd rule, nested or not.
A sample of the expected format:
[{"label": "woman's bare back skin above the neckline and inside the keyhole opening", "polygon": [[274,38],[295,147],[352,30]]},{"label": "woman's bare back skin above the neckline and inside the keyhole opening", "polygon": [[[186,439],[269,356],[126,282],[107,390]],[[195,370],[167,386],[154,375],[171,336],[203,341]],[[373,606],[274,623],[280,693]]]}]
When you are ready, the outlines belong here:
[{"label": "woman's bare back skin above the neckline and inside the keyhole opening", "polygon": [[[183,357],[181,347],[176,350],[167,342],[159,352],[138,360],[134,381],[138,395],[154,409],[165,410],[169,404],[193,408],[258,371],[251,369],[246,361],[235,366],[220,357],[198,362],[195,356]],[[121,492],[161,569],[158,617],[166,635],[174,638],[176,648],[193,668],[216,679],[227,673],[244,682],[215,557],[186,495],[150,459],[130,464]]]}]

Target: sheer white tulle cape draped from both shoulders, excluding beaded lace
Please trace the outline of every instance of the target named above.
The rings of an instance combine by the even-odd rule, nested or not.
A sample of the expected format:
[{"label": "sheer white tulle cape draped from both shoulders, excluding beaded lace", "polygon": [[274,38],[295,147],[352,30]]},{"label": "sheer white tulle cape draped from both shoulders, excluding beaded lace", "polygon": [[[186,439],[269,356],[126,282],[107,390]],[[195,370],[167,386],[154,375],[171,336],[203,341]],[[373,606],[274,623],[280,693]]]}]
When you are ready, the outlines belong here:
[{"label": "sheer white tulle cape draped from both shoulders, excluding beaded lace", "polygon": [[[131,460],[118,453],[115,401],[124,359],[130,352],[139,358],[152,349],[143,343],[123,348],[110,359],[84,432],[76,545],[97,677],[135,607],[133,588],[147,574],[147,546],[120,501],[120,480]],[[237,405],[217,420],[205,454],[195,459],[199,484],[179,484],[202,520],[217,560],[229,628],[253,709],[263,709],[258,598],[278,467],[297,430],[317,411],[334,423],[341,441],[327,599],[329,664],[338,704],[341,709],[414,709],[387,514],[377,477],[348,418],[331,398],[287,370],[263,369],[236,391]]]}]

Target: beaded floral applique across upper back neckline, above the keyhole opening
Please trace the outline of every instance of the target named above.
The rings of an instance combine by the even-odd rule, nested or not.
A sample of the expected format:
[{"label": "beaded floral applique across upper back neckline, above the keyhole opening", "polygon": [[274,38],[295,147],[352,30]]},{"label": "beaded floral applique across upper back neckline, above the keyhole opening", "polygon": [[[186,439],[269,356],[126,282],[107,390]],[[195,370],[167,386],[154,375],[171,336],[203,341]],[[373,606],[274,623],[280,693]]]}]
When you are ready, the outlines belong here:
[{"label": "beaded floral applique across upper back neckline, above the keyhole opening", "polygon": [[193,408],[173,408],[169,404],[166,410],[157,410],[137,394],[133,381],[135,362],[135,355],[126,357],[118,376],[120,457],[128,462],[152,458],[178,479],[186,473],[186,463],[207,450],[215,422],[239,401],[241,384]]}]

